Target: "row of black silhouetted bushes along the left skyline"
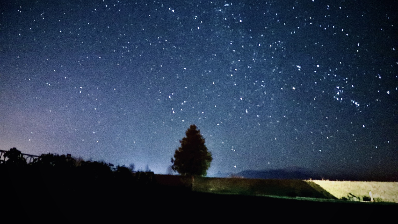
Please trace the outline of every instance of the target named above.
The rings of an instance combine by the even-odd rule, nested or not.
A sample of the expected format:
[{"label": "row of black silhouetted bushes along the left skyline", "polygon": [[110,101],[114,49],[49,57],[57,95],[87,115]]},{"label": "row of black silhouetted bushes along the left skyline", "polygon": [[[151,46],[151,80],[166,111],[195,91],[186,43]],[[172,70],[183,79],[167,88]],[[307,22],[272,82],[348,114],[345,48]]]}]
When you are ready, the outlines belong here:
[{"label": "row of black silhouetted bushes along the left skyline", "polygon": [[109,187],[109,184],[121,181],[129,184],[129,187],[150,186],[154,183],[153,172],[133,172],[125,166],[115,167],[103,161],[76,160],[70,154],[42,154],[27,163],[16,148],[4,153],[0,169],[10,178],[29,179],[29,176],[35,176],[37,180],[62,182],[62,186],[68,186],[69,189],[93,183],[98,188],[101,185]]}]

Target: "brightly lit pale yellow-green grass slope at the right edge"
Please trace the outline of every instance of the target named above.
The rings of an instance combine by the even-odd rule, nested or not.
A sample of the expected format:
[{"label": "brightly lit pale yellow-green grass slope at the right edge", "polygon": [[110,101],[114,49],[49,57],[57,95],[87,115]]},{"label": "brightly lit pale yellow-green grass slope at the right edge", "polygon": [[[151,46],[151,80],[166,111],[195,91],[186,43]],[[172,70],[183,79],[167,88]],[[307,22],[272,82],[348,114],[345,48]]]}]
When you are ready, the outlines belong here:
[{"label": "brightly lit pale yellow-green grass slope at the right edge", "polygon": [[369,191],[373,199],[383,202],[398,203],[398,182],[376,181],[333,181],[333,180],[306,180],[318,184],[336,198],[369,198]]}]

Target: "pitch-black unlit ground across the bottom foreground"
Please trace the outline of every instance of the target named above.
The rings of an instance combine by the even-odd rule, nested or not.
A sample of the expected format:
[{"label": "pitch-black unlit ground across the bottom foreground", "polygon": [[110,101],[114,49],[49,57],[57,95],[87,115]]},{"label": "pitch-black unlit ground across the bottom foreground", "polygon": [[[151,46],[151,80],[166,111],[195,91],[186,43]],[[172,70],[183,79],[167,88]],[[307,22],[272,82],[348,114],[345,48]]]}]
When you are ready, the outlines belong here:
[{"label": "pitch-black unlit ground across the bottom foreground", "polygon": [[[76,182],[73,182],[76,181]],[[397,204],[319,202],[193,192],[189,188],[126,180],[65,180],[38,176],[3,176],[0,213],[15,223],[118,223],[203,220],[238,221],[302,219],[384,220]],[[14,223],[12,222],[12,223]]]}]

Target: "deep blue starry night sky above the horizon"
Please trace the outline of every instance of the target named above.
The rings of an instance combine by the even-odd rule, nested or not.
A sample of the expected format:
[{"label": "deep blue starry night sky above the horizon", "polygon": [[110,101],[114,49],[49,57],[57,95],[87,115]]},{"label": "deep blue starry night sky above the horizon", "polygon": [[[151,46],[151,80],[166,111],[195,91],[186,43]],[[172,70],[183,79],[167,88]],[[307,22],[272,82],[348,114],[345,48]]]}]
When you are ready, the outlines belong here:
[{"label": "deep blue starry night sky above the horizon", "polygon": [[[392,3],[391,3],[392,2]],[[0,149],[166,173],[398,173],[394,1],[6,1]]]}]

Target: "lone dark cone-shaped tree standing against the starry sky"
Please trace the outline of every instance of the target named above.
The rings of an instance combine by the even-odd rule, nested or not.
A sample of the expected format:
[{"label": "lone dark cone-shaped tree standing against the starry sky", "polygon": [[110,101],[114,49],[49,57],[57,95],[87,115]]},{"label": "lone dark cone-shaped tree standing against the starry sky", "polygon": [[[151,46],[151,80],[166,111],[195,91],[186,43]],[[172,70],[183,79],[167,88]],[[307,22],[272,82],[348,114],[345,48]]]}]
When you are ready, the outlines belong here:
[{"label": "lone dark cone-shaped tree standing against the starry sky", "polygon": [[181,146],[172,157],[172,169],[184,176],[206,176],[213,160],[205,146],[205,139],[196,128],[195,125],[189,127],[185,132],[186,137],[179,141]]}]

